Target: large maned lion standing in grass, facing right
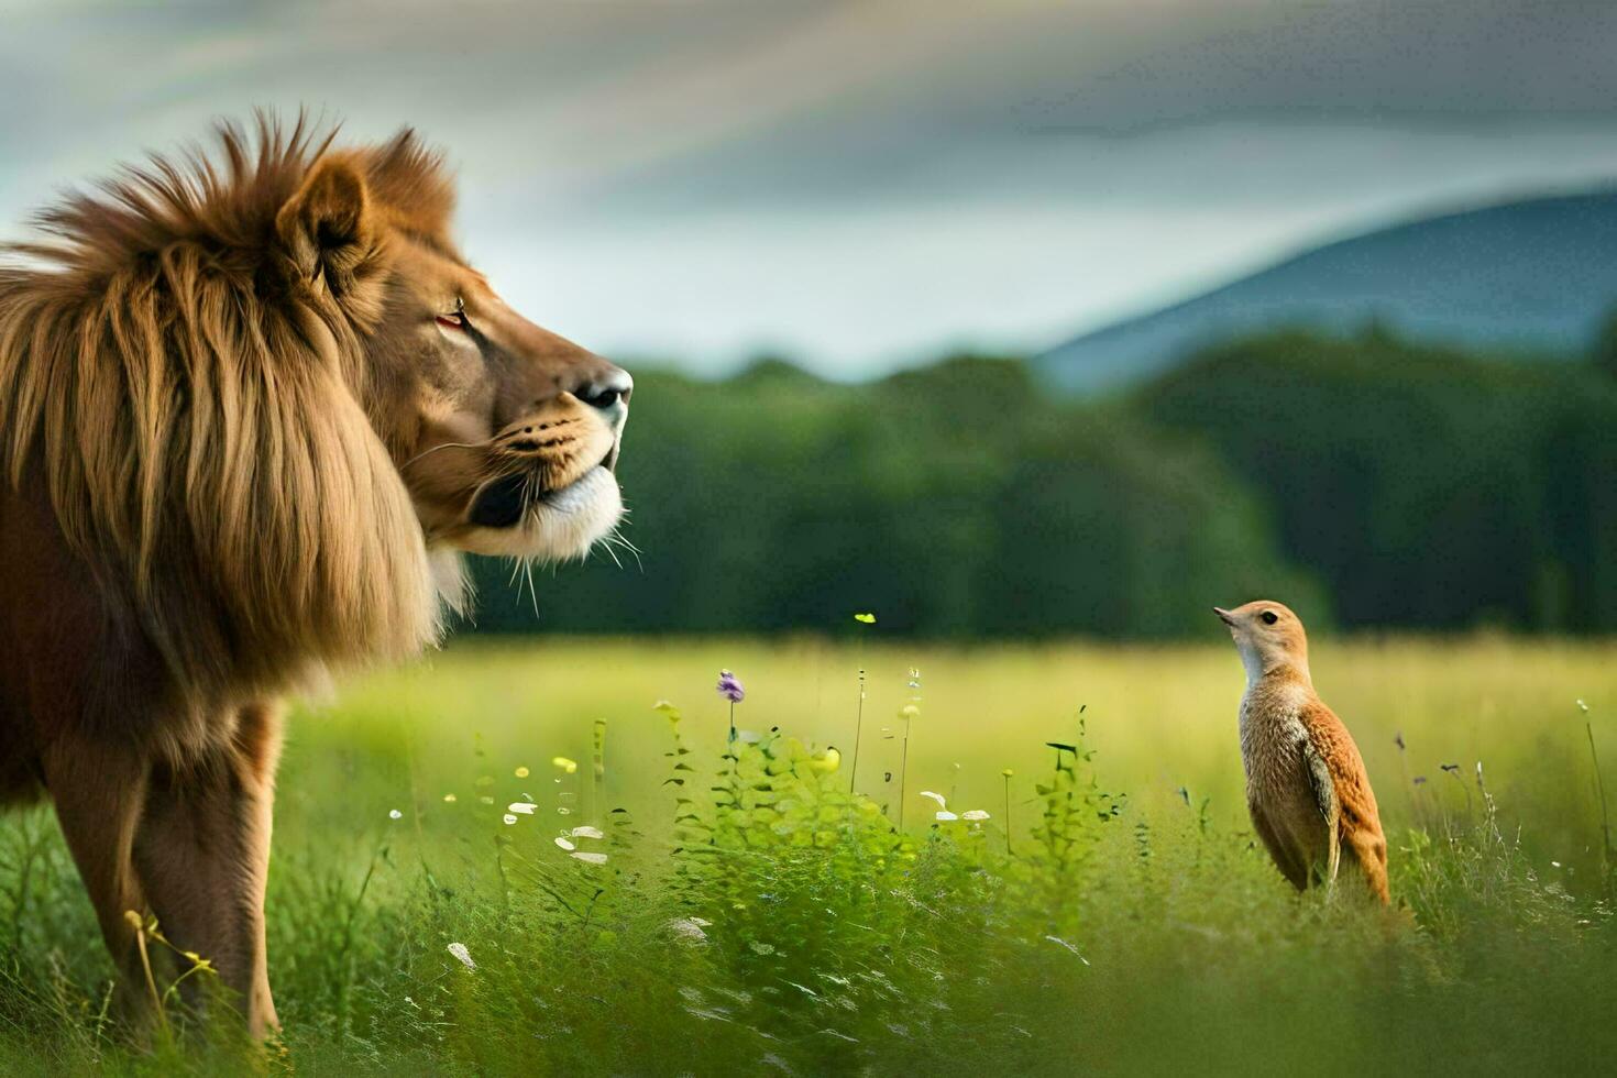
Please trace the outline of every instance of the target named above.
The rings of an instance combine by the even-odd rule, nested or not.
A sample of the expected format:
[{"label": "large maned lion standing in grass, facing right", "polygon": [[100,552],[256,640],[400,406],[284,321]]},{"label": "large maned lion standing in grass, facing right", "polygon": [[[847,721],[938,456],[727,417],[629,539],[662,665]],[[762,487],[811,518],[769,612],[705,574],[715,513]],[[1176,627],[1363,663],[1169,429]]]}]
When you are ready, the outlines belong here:
[{"label": "large maned lion standing in grass, facing right", "polygon": [[0,263],[0,802],[53,802],[126,1005],[152,915],[254,1036],[281,701],[437,643],[461,551],[623,514],[629,375],[471,268],[441,154],[335,136],[220,123]]}]

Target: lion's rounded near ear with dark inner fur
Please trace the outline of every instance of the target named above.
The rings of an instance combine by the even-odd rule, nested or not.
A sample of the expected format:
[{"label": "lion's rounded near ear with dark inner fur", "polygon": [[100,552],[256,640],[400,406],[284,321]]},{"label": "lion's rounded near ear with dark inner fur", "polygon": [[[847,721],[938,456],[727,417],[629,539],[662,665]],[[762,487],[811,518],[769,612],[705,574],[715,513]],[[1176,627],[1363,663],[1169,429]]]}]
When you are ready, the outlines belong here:
[{"label": "lion's rounded near ear with dark inner fur", "polygon": [[343,157],[315,162],[275,215],[275,234],[294,275],[338,296],[353,291],[377,246],[364,173]]}]

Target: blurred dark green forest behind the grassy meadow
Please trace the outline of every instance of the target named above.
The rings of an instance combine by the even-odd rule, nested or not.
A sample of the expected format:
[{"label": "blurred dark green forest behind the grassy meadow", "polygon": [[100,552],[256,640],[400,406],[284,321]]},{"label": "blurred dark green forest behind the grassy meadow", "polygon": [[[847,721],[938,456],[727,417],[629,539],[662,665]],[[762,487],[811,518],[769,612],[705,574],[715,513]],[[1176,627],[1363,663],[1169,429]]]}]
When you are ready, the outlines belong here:
[{"label": "blurred dark green forest behind the grassy meadow", "polygon": [[[1617,330],[1614,330],[1617,341]],[[1276,333],[1104,401],[1017,359],[870,385],[639,370],[623,533],[475,561],[485,632],[1176,637],[1279,598],[1311,625],[1617,630],[1617,377]]]}]

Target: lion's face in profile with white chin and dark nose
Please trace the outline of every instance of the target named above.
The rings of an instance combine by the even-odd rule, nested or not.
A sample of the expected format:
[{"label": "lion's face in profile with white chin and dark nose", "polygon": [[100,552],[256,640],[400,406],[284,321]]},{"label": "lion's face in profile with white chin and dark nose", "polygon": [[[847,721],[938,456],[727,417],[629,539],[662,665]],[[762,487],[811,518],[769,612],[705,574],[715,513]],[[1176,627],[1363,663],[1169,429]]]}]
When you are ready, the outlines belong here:
[{"label": "lion's face in profile with white chin and dark nose", "polygon": [[367,347],[429,543],[582,556],[623,516],[629,375],[519,315],[448,249],[399,233],[388,251]]}]

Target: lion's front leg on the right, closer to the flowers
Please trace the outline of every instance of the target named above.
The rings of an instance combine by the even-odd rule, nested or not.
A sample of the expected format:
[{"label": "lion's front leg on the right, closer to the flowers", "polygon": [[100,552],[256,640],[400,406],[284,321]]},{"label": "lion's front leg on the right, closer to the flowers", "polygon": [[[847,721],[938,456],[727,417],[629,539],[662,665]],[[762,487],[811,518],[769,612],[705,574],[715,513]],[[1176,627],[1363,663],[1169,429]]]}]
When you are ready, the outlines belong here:
[{"label": "lion's front leg on the right, closer to the flowers", "polygon": [[278,710],[243,708],[228,745],[152,776],[134,839],[136,871],[163,934],[213,963],[255,1038],[278,1028],[264,945],[278,752]]}]

